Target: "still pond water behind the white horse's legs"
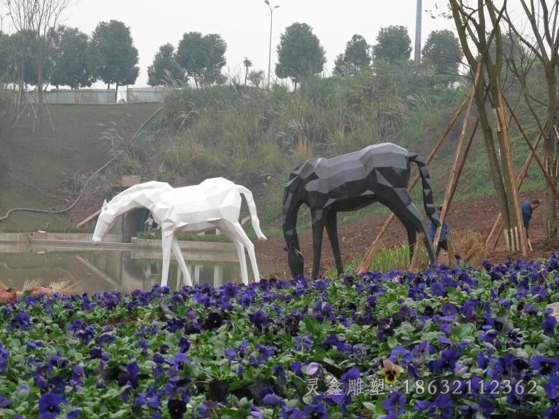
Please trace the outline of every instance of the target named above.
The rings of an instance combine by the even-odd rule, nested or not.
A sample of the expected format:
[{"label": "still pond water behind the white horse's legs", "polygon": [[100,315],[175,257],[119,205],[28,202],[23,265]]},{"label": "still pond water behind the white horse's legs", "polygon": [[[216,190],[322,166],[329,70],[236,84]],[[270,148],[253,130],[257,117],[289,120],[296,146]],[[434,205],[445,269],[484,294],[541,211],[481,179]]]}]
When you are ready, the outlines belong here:
[{"label": "still pond water behind the white horse's legs", "polygon": [[[6,250],[6,249],[4,249]],[[148,291],[161,283],[161,255],[153,258],[149,253],[101,249],[48,249],[0,253],[0,286],[21,290],[25,281],[41,281],[44,286],[52,282],[67,281],[78,293],[134,290]],[[208,283],[220,286],[228,282],[240,282],[238,262],[190,262],[185,257],[194,284]],[[247,258],[248,260],[248,258]],[[249,281],[252,267],[248,264]],[[259,265],[261,276],[273,272]],[[168,284],[171,289],[180,288],[182,272],[176,260],[171,259]]]}]

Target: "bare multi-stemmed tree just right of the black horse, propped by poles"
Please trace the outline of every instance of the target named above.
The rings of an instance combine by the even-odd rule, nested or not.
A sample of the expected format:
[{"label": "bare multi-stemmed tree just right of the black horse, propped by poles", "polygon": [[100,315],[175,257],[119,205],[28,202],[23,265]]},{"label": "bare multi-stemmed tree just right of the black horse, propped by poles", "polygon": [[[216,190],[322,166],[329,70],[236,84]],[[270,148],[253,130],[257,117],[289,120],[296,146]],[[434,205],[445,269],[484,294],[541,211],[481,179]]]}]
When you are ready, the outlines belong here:
[{"label": "bare multi-stemmed tree just right of the black horse, propped by poles", "polygon": [[[491,0],[472,0],[473,6],[466,0],[450,0],[451,13],[458,31],[458,38],[467,63],[472,71],[481,64],[482,71],[475,91],[475,102],[479,114],[479,122],[484,135],[484,143],[493,177],[495,192],[500,200],[500,209],[505,229],[521,228],[518,211],[514,207],[513,188],[515,179],[511,179],[513,172],[511,162],[505,153],[501,154],[501,166],[498,152],[495,149],[495,132],[491,122],[491,108],[498,108],[500,95],[499,78],[503,68],[503,40],[500,29],[502,15],[507,5],[504,0],[502,8],[495,8]],[[493,44],[495,54],[489,54]],[[491,108],[488,108],[488,105]],[[500,149],[504,150],[505,138],[503,131],[496,133]],[[513,172],[514,173],[514,172]]]}]

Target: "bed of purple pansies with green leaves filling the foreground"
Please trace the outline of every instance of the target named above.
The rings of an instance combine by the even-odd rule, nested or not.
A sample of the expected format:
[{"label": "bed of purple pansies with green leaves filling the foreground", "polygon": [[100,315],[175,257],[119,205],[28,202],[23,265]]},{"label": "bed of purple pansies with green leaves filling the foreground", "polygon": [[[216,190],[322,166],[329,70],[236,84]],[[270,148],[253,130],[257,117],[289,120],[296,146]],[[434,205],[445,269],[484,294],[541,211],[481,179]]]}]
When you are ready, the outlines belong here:
[{"label": "bed of purple pansies with green leaves filling the foreground", "polygon": [[24,295],[0,417],[559,418],[558,269]]}]

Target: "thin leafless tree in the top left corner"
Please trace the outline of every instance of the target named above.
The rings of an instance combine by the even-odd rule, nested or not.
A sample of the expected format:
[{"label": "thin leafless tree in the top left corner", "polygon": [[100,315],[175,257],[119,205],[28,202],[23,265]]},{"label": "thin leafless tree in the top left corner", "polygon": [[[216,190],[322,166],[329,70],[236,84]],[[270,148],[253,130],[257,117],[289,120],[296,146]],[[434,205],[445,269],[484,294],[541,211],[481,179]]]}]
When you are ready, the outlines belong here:
[{"label": "thin leafless tree in the top left corner", "polygon": [[[24,47],[34,43],[37,61],[38,102],[44,103],[43,84],[45,59],[51,41],[51,29],[59,22],[61,13],[68,7],[69,0],[3,0],[17,31],[22,34]],[[20,68],[20,94],[24,88],[24,64]]]}]

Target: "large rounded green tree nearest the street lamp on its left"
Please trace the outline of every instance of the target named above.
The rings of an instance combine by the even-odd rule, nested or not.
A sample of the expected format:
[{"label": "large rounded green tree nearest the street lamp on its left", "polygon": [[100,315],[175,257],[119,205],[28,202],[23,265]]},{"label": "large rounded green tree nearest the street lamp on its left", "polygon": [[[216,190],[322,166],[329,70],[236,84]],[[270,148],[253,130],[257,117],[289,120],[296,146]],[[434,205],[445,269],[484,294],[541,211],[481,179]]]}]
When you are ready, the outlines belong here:
[{"label": "large rounded green tree nearest the street lamp on its left", "polygon": [[227,44],[221,36],[189,32],[182,36],[177,48],[177,61],[196,87],[222,80],[221,71],[226,64]]}]

